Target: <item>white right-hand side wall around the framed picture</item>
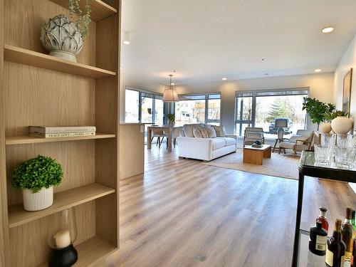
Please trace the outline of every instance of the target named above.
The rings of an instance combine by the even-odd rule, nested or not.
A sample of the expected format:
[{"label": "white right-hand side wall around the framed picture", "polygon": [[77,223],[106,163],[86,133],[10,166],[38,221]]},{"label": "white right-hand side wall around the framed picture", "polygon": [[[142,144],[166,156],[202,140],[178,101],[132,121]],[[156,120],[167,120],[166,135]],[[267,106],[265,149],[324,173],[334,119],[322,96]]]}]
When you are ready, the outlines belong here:
[{"label": "white right-hand side wall around the framed picture", "polygon": [[[334,99],[337,110],[342,109],[342,90],[345,74],[352,68],[352,88],[350,97],[350,117],[356,121],[356,35],[350,43],[350,46],[342,56],[339,65],[335,70],[334,78]],[[356,124],[354,123],[354,129]]]}]

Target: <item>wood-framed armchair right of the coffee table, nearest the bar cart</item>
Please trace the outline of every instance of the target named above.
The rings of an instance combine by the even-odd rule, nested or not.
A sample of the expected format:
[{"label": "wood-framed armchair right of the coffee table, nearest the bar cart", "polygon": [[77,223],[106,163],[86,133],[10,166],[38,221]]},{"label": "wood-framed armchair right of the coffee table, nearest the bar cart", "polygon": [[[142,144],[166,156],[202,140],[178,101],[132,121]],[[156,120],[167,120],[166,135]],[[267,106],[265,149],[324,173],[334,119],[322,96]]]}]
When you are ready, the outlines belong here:
[{"label": "wood-framed armchair right of the coffee table, nearest the bar cart", "polygon": [[313,130],[298,130],[296,135],[292,135],[289,139],[283,138],[279,144],[278,154],[281,154],[281,150],[284,150],[286,154],[286,149],[289,149],[293,150],[293,157],[295,157],[297,152],[310,150],[313,145],[313,136]]}]

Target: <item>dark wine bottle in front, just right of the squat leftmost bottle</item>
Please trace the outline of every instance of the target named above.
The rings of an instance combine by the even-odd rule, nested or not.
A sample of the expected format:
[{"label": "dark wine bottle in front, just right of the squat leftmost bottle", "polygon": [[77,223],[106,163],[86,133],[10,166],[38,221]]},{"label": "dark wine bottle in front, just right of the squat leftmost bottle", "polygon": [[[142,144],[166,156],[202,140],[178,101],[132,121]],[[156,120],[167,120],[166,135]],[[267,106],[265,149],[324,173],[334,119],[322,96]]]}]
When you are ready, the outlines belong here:
[{"label": "dark wine bottle in front, just right of the squat leftmost bottle", "polygon": [[333,236],[327,242],[325,264],[328,267],[342,267],[345,257],[345,243],[341,239],[341,220],[336,219]]}]

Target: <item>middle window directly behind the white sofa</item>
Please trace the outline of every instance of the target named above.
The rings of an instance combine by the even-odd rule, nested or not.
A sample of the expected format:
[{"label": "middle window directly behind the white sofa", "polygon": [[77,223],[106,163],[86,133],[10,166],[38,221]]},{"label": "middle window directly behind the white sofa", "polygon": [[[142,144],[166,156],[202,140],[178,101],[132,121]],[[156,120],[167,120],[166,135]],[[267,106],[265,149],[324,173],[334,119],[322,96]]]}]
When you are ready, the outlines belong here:
[{"label": "middle window directly behind the white sofa", "polygon": [[175,124],[220,124],[220,94],[180,95],[174,105]]}]

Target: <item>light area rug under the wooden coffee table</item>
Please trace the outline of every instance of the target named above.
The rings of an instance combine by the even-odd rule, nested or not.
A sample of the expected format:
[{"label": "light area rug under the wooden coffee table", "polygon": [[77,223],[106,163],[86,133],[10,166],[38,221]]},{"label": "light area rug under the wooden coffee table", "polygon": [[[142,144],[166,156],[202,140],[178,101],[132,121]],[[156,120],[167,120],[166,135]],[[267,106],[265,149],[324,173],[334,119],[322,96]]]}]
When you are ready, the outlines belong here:
[{"label": "light area rug under the wooden coffee table", "polygon": [[242,159],[243,151],[239,148],[236,153],[219,157],[218,159],[214,159],[211,162],[204,162],[203,164],[298,180],[300,157],[293,157],[292,153],[281,155],[278,155],[278,152],[272,153],[271,159],[263,159],[263,165],[243,163]]}]

